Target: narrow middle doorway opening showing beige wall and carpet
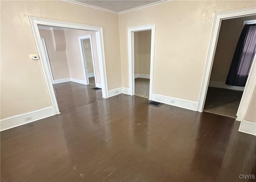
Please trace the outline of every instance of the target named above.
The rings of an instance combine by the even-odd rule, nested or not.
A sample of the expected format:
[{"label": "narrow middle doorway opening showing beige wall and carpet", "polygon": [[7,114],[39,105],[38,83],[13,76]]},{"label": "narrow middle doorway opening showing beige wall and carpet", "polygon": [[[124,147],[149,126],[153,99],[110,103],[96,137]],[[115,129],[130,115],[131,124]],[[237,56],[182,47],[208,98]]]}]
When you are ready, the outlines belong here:
[{"label": "narrow middle doorway opening showing beige wall and carpet", "polygon": [[149,98],[151,30],[134,32],[134,95]]}]

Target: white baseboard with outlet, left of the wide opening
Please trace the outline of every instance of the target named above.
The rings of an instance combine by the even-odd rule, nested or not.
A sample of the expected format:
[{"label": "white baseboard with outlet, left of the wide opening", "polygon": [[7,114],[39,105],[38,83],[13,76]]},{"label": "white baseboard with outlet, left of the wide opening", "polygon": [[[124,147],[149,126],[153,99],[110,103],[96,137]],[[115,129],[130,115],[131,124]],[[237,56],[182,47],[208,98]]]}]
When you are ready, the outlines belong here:
[{"label": "white baseboard with outlet, left of the wide opening", "polygon": [[[18,114],[11,117],[6,117],[4,119],[0,119],[0,131],[4,131],[6,129],[10,129],[13,127],[17,127],[20,125],[24,125],[26,123],[31,123],[33,121],[37,121],[39,119],[43,119],[45,117],[49,117],[55,115],[53,107],[42,108],[40,110],[35,110],[31,112],[26,112],[24,114]],[[25,120],[25,117],[30,116],[31,119]]]}]

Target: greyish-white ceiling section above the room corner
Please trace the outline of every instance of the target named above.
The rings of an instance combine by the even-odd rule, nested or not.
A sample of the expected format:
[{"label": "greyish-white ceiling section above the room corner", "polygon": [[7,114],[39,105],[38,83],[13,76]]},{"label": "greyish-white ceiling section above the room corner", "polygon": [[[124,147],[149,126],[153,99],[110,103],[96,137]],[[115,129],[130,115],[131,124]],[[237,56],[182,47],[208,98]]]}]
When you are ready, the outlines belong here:
[{"label": "greyish-white ceiling section above the room corner", "polygon": [[96,6],[116,13],[162,1],[164,0],[67,0],[67,2]]}]

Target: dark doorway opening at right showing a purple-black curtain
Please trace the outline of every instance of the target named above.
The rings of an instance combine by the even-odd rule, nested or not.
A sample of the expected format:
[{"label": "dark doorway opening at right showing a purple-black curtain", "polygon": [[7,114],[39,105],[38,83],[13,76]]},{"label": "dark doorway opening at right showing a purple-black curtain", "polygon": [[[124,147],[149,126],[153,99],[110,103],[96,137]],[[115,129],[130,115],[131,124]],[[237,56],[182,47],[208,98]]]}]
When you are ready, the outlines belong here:
[{"label": "dark doorway opening at right showing a purple-black curtain", "polygon": [[246,16],[222,21],[205,112],[236,118],[256,51],[255,19]]}]

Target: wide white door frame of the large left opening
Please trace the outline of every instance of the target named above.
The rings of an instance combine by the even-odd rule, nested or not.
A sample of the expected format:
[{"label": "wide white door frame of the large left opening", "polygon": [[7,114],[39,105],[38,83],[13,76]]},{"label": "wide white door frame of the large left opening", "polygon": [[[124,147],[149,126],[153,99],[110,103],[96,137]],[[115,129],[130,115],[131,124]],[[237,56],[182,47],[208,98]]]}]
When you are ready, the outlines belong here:
[{"label": "wide white door frame of the large left opening", "polygon": [[62,21],[58,21],[58,20],[49,20],[49,19],[44,19],[44,18],[36,18],[36,17],[32,17],[32,16],[29,16],[28,18],[30,21],[30,26],[32,29],[34,40],[36,43],[36,49],[37,49],[38,55],[40,57],[40,63],[42,66],[42,71],[44,74],[44,79],[46,81],[46,86],[48,89],[50,100],[52,102],[52,107],[54,108],[54,114],[60,114],[60,110],[58,107],[56,95],[54,93],[54,88],[52,85],[53,82],[50,77],[50,71],[47,66],[46,56],[44,54],[44,48],[43,48],[43,44],[41,41],[38,25],[50,25],[50,26],[57,26],[57,27],[95,31],[97,50],[98,50],[98,60],[99,60],[99,67],[100,67],[102,97],[108,98],[108,83],[107,83],[107,75],[106,75],[106,62],[105,62],[102,27],[94,26],[94,25],[85,25],[85,24],[80,24],[80,23],[62,22]]}]

